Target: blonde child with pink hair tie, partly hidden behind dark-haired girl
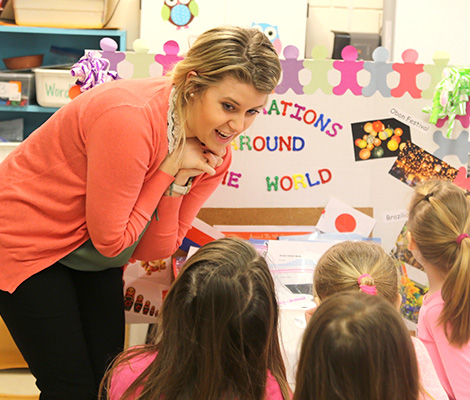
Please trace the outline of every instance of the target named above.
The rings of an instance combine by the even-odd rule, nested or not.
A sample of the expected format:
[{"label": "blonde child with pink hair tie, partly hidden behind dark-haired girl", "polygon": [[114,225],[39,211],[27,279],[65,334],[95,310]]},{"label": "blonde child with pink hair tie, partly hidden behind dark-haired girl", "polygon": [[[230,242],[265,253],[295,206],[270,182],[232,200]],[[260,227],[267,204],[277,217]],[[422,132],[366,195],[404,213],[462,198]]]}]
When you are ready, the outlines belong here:
[{"label": "blonde child with pink hair tie, partly hidden behind dark-haired girl", "polygon": [[[313,277],[315,302],[320,304],[338,292],[362,292],[385,298],[396,310],[400,304],[398,270],[382,246],[373,242],[341,242],[319,259]],[[415,347],[423,391],[421,399],[448,399],[423,343],[411,338]]]}]

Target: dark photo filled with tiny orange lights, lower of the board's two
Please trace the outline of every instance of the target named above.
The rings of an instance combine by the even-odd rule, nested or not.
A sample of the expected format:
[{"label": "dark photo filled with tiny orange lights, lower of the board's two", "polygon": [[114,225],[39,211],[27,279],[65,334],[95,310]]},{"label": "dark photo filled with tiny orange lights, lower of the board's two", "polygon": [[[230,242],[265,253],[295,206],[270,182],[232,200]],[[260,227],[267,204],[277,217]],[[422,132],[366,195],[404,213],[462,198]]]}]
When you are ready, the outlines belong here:
[{"label": "dark photo filled with tiny orange lights, lower of the board's two", "polygon": [[421,147],[406,142],[388,173],[414,187],[430,179],[453,181],[458,170]]}]

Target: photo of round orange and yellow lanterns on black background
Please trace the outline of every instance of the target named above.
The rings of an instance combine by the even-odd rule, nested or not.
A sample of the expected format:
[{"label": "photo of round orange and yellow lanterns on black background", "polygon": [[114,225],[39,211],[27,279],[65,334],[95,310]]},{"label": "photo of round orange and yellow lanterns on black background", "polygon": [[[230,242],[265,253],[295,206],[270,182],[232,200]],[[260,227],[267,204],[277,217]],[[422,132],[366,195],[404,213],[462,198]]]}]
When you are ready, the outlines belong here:
[{"label": "photo of round orange and yellow lanterns on black background", "polygon": [[411,140],[410,127],[395,118],[351,124],[356,161],[396,157],[402,143]]}]

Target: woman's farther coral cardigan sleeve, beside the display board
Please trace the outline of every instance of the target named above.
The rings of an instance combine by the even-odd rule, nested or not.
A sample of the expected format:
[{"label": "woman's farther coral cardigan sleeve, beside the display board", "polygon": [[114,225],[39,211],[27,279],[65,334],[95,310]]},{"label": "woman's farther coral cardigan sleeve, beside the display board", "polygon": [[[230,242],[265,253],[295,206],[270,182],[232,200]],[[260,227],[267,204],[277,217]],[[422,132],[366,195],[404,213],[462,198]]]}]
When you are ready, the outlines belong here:
[{"label": "woman's farther coral cardigan sleeve, beside the display board", "polygon": [[204,174],[184,196],[163,196],[158,204],[157,216],[136,247],[133,258],[143,261],[159,260],[171,256],[181,245],[201,207],[215,191],[230,167],[232,153],[227,149],[224,162],[213,176]]}]

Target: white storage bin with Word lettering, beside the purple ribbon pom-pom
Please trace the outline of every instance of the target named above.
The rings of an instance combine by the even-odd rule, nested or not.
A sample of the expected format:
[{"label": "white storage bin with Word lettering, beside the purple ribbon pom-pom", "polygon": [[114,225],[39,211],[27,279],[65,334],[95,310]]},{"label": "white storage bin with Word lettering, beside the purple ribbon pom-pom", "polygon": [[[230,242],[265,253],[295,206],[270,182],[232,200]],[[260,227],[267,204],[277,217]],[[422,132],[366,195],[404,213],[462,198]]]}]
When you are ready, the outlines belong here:
[{"label": "white storage bin with Word lettering, beside the purple ribbon pom-pom", "polygon": [[69,89],[76,78],[70,68],[35,68],[36,100],[43,107],[62,107],[70,101]]}]

